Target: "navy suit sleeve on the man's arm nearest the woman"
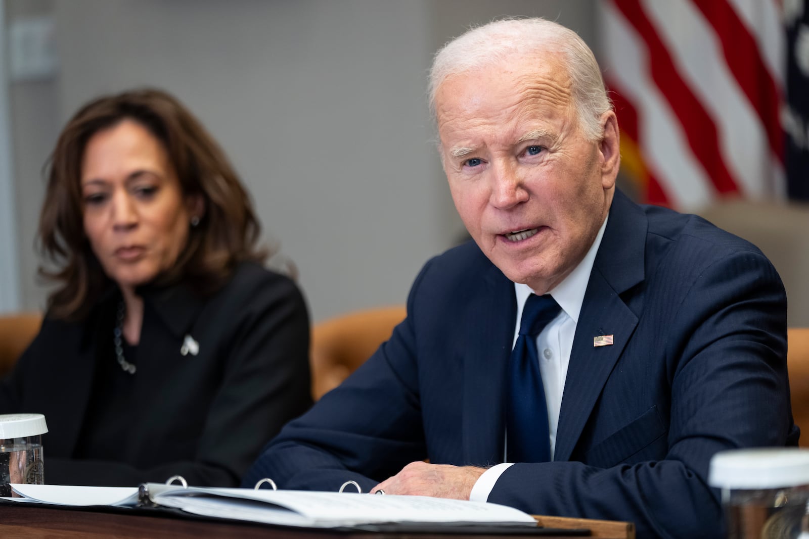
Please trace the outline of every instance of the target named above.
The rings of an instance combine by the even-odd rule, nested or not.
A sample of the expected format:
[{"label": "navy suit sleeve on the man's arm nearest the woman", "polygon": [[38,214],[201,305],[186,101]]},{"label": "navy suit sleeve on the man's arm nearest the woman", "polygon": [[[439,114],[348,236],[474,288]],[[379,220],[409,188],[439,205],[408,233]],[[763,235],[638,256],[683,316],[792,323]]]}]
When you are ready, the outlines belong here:
[{"label": "navy suit sleeve on the man's arm nearest the woman", "polygon": [[[422,277],[413,284],[408,310]],[[354,480],[363,492],[426,458],[410,317],[340,387],[283,428],[244,476],[252,487],[271,478],[279,488],[337,491]]]}]

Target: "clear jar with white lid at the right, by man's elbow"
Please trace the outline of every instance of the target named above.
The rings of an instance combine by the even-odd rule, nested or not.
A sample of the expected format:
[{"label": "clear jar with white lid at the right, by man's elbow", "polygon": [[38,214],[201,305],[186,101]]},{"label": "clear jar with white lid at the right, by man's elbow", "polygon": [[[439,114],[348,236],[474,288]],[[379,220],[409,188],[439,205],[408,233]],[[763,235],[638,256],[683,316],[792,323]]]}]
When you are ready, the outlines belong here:
[{"label": "clear jar with white lid at the right, by man's elbow", "polygon": [[802,537],[809,501],[809,450],[722,451],[711,459],[708,482],[722,489],[727,537],[809,537],[809,534]]}]

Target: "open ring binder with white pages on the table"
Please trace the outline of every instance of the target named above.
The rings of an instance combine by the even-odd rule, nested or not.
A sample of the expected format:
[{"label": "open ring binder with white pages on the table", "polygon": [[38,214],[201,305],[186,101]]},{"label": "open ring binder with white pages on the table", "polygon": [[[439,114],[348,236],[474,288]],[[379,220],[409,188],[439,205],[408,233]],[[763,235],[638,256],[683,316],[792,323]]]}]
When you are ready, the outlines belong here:
[{"label": "open ring binder with white pages on the table", "polygon": [[275,491],[146,483],[138,488],[13,484],[19,503],[83,507],[170,507],[197,516],[305,528],[589,535],[537,527],[534,517],[496,503],[427,496]]}]

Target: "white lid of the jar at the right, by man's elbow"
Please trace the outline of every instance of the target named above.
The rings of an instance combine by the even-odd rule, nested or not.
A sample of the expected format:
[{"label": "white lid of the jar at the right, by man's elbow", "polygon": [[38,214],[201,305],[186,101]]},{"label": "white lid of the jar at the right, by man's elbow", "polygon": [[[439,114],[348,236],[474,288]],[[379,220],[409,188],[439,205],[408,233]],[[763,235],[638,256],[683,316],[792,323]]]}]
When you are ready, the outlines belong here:
[{"label": "white lid of the jar at the right, by man's elbow", "polygon": [[756,448],[720,451],[711,458],[708,483],[726,489],[809,485],[809,450]]}]

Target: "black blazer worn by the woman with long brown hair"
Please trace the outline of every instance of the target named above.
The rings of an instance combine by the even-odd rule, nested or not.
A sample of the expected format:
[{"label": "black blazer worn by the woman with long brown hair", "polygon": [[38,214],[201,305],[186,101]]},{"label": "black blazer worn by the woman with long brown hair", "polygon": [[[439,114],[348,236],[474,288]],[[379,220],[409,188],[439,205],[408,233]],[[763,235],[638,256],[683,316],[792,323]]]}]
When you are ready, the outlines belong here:
[{"label": "black blazer worn by the woman with long brown hair", "polygon": [[[83,323],[46,316],[0,382],[0,413],[45,415],[44,477],[53,484],[134,486],[180,474],[193,485],[235,486],[261,444],[311,405],[309,319],[292,280],[242,263],[212,297],[178,285],[143,294],[132,423],[115,461],[77,460],[96,361],[115,362],[120,294]],[[185,335],[196,356],[180,353]],[[96,433],[97,434],[97,433]]]}]

